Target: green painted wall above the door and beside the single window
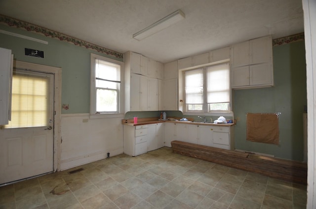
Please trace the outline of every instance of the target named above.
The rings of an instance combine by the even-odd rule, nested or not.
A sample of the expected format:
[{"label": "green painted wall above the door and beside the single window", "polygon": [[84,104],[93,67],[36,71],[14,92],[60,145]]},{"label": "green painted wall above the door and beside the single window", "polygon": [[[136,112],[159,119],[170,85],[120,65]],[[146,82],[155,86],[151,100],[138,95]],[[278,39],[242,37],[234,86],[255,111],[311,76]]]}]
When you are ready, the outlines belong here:
[{"label": "green painted wall above the door and beside the single window", "polygon": [[[109,56],[72,43],[5,25],[0,25],[0,30],[48,41],[46,45],[0,34],[0,47],[11,49],[14,60],[62,68],[62,104],[69,104],[69,109],[63,109],[62,113],[90,112],[90,53]],[[44,58],[25,56],[24,48],[44,51]]]}]

